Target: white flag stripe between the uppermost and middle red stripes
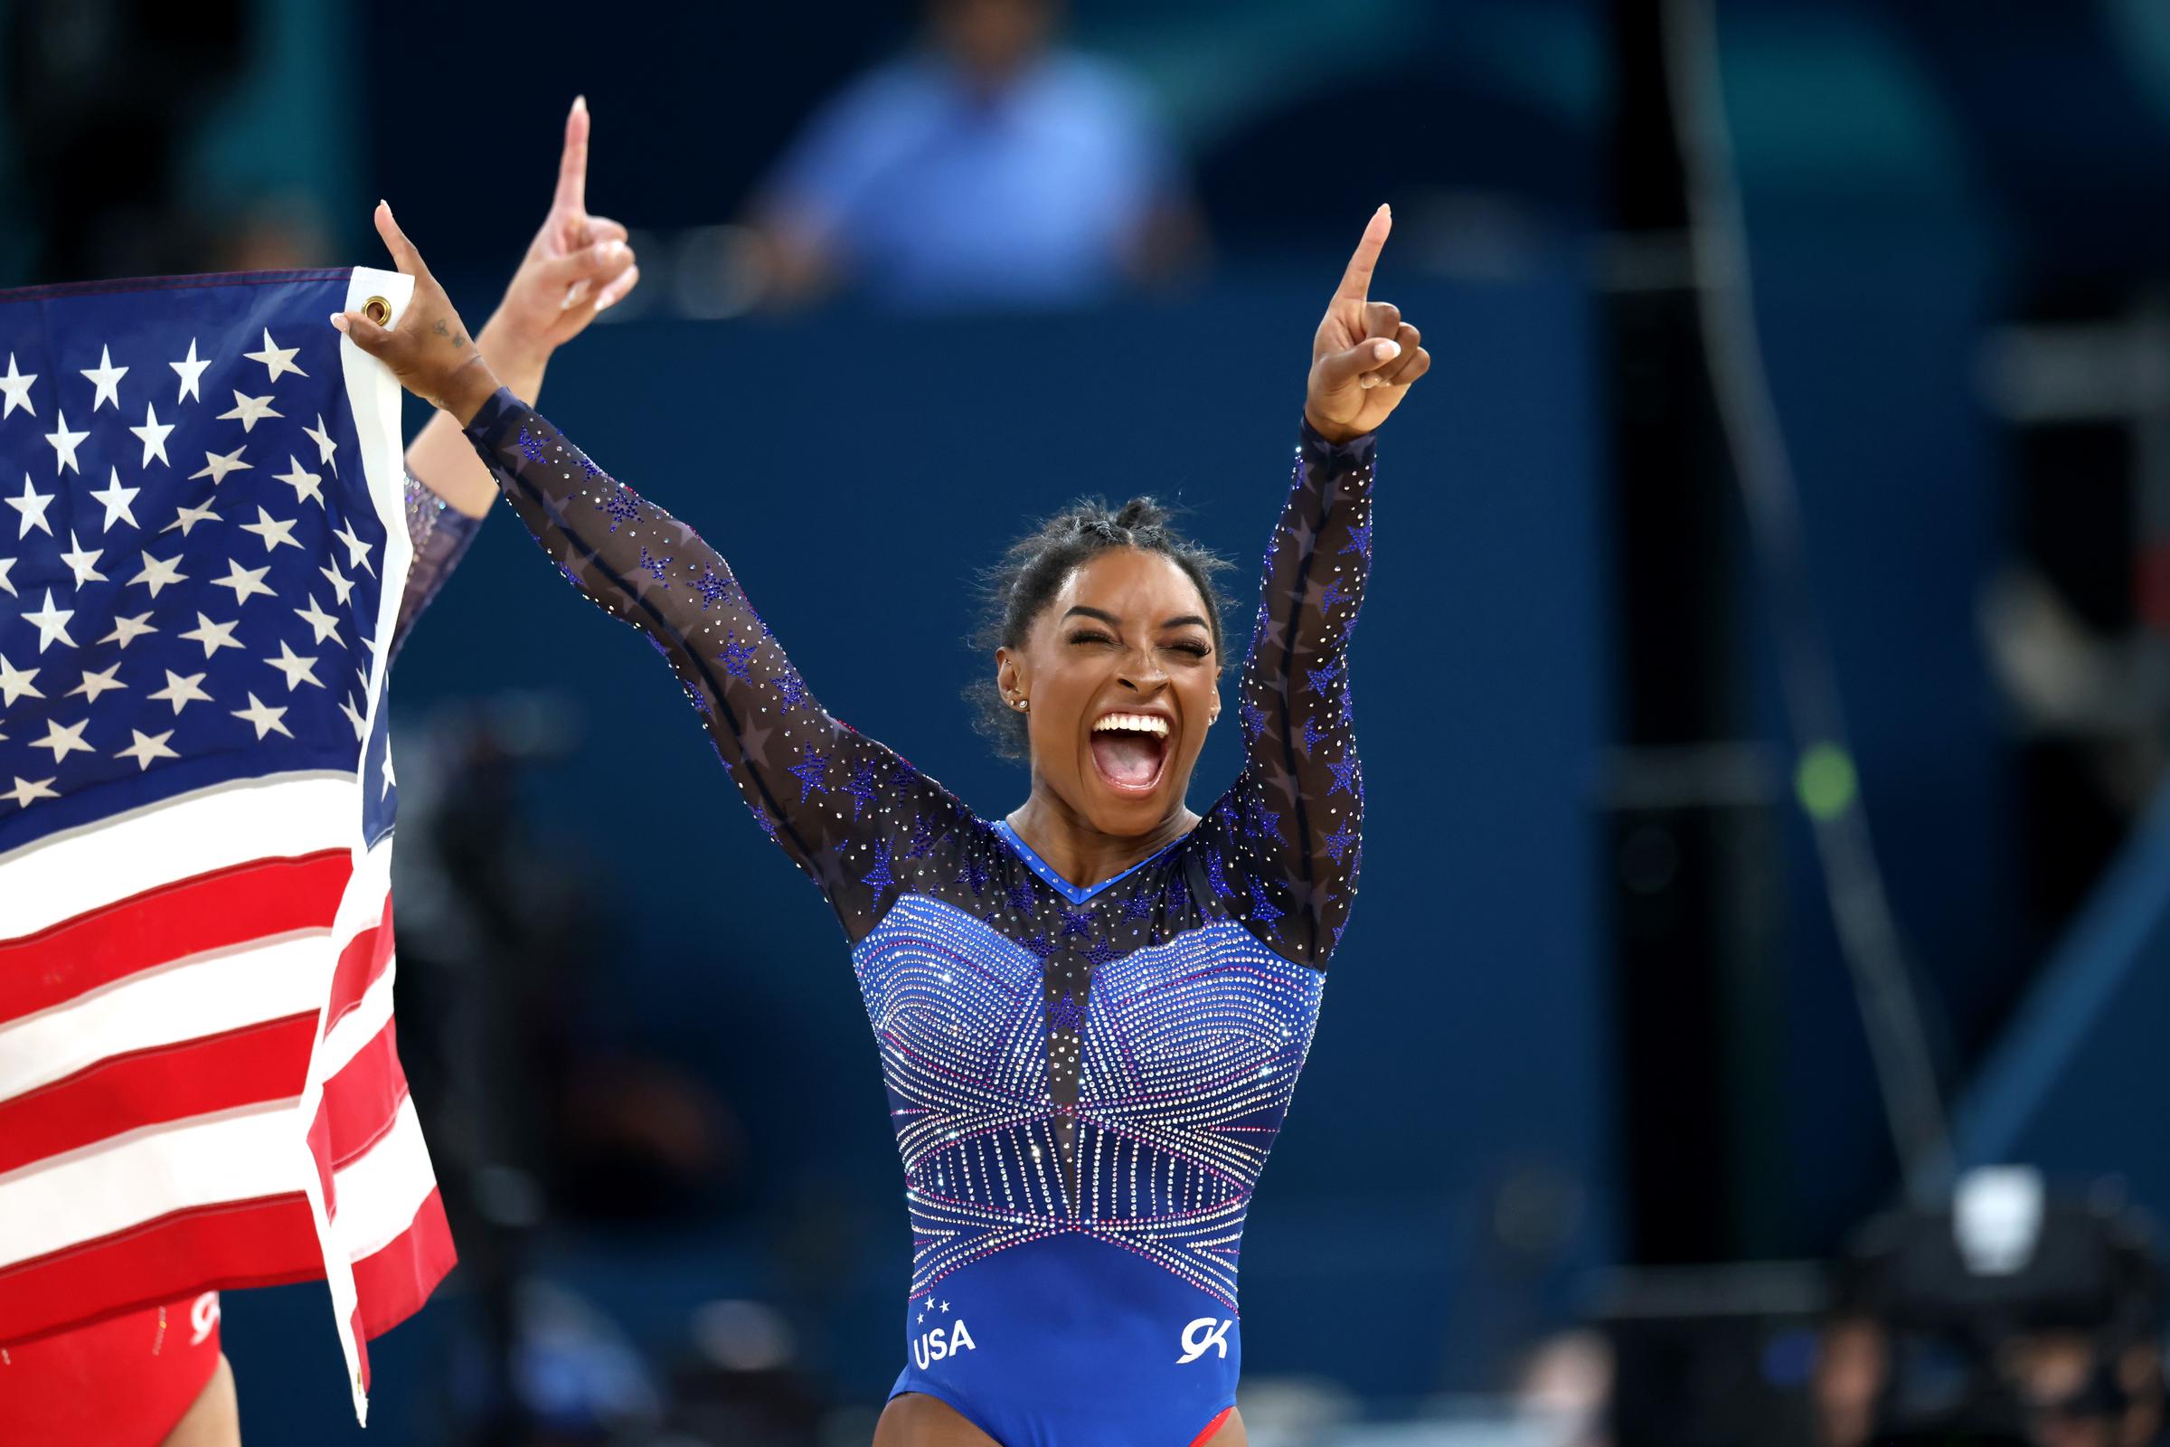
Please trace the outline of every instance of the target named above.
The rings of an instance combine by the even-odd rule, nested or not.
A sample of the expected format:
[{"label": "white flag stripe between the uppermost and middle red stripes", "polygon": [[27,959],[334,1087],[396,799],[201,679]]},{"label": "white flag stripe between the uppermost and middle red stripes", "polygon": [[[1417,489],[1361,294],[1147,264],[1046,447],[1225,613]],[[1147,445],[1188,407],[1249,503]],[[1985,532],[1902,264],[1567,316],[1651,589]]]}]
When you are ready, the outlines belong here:
[{"label": "white flag stripe between the uppermost and middle red stripes", "polygon": [[210,950],[130,974],[0,1026],[0,1100],[115,1054],[323,1009],[330,981],[326,931]]}]

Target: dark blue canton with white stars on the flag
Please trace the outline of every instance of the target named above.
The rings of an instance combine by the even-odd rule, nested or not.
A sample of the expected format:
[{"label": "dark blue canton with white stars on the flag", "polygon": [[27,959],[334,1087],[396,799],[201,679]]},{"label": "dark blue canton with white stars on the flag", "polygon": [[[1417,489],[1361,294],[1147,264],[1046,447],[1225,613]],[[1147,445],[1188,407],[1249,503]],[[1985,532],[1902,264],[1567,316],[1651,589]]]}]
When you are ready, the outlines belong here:
[{"label": "dark blue canton with white stars on the flag", "polygon": [[0,853],[312,770],[360,770],[362,837],[391,827],[406,538],[326,321],[352,278],[0,293]]}]

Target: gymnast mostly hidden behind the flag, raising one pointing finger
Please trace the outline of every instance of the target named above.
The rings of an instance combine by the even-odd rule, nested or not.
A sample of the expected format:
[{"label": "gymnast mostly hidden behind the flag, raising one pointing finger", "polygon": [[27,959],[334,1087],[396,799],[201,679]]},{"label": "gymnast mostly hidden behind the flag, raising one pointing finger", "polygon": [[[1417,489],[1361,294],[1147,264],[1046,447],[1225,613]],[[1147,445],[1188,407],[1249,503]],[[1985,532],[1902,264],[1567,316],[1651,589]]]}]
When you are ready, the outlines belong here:
[{"label": "gymnast mostly hidden behind the flag, raising one pointing finger", "polygon": [[[475,338],[499,375],[516,377],[510,386],[540,388],[551,354],[640,282],[625,228],[588,215],[588,124],[586,102],[575,100],[549,217]],[[443,414],[408,445],[406,473],[414,562],[399,597],[393,653],[497,501],[495,477]],[[234,1447],[239,1440],[217,1291],[0,1352],[0,1443]]]}]

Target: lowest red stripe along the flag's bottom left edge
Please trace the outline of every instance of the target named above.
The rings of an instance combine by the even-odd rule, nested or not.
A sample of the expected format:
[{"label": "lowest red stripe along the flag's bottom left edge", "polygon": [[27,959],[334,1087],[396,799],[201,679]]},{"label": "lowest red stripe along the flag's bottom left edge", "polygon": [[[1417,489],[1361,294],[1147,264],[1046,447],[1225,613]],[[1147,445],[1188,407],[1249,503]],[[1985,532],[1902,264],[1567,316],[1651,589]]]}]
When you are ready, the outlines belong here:
[{"label": "lowest red stripe along the flag's bottom left edge", "polygon": [[0,1343],[200,1291],[321,1278],[306,1195],[195,1206],[0,1269]]}]

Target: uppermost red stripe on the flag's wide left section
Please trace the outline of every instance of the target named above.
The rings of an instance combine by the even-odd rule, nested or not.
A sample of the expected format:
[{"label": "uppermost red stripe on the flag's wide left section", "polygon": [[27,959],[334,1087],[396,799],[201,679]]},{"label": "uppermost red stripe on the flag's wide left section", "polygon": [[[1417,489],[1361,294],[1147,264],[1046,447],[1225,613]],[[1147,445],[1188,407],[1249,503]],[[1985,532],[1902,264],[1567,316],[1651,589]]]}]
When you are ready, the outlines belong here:
[{"label": "uppermost red stripe on the flag's wide left section", "polygon": [[0,1022],[204,950],[330,929],[352,874],[347,850],[252,859],[9,939],[0,944]]}]

